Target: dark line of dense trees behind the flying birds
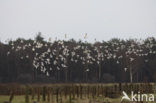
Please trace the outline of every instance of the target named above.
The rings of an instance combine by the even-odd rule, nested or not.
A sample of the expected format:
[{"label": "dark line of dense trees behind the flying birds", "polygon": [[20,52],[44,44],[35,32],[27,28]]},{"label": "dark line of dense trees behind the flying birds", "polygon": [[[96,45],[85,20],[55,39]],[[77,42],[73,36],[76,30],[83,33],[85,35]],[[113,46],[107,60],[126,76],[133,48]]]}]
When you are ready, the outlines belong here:
[{"label": "dark line of dense trees behind the flying birds", "polygon": [[155,67],[154,37],[89,43],[38,34],[0,43],[1,83],[155,82]]}]

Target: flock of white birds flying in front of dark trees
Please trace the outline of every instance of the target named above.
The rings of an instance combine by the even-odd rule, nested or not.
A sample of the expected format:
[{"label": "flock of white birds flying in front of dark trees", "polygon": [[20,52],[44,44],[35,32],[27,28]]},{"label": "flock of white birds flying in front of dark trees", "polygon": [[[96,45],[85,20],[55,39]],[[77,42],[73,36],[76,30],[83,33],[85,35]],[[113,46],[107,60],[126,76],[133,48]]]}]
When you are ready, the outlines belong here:
[{"label": "flock of white birds flying in front of dark trees", "polygon": [[[117,64],[122,63],[122,59],[126,58],[128,63],[135,62],[136,58],[143,57],[145,62],[148,62],[149,55],[156,54],[155,38],[145,40],[133,40],[131,42],[106,42],[107,45],[97,45],[98,43],[86,45],[84,43],[67,44],[67,41],[55,40],[51,42],[33,41],[26,43],[23,40],[20,43],[12,42],[11,50],[7,52],[9,56],[12,52],[24,52],[20,59],[32,59],[32,64],[35,69],[41,70],[47,76],[50,76],[49,71],[54,68],[58,71],[68,69],[69,62],[81,63],[84,66],[84,72],[89,72],[91,69],[86,65],[101,65],[105,60],[113,59]],[[84,45],[82,45],[84,44]],[[29,52],[27,52],[29,51]],[[53,65],[53,66],[52,66]],[[98,68],[98,67],[97,67]],[[124,67],[126,72],[129,67]]]}]

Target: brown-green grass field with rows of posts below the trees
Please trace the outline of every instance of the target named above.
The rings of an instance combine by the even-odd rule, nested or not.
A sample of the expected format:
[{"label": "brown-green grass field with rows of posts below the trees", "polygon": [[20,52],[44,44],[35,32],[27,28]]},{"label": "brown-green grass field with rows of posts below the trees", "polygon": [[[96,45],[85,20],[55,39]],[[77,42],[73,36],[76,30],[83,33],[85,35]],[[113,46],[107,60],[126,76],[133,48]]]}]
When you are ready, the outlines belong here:
[{"label": "brown-green grass field with rows of posts below the trees", "polygon": [[[122,91],[153,93],[155,84],[0,85],[0,103],[121,103]],[[38,102],[37,102],[38,101]],[[130,103],[130,102],[122,102]],[[131,102],[132,103],[132,102]],[[137,102],[143,103],[143,102]],[[147,102],[144,102],[147,103]],[[155,102],[151,102],[155,103]]]}]

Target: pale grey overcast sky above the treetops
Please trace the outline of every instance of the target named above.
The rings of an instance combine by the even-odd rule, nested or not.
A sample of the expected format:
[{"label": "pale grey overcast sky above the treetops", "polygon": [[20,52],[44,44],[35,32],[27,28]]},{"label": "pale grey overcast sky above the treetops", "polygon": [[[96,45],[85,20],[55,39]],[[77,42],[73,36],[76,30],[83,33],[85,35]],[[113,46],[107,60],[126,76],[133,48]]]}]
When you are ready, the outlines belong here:
[{"label": "pale grey overcast sky above the treetops", "polygon": [[[0,0],[0,40],[146,38],[156,35],[156,0]],[[155,36],[156,37],[156,36]]]}]

